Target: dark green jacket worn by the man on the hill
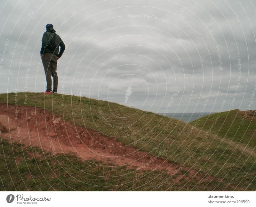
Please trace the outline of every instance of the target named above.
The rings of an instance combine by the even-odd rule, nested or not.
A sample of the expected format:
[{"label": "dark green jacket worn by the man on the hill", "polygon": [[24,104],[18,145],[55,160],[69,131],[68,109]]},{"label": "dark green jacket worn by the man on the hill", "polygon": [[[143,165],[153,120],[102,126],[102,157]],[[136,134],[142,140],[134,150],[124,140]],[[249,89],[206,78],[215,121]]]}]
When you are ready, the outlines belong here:
[{"label": "dark green jacket worn by the man on the hill", "polygon": [[[55,32],[56,31],[51,27],[51,28],[47,29],[46,32],[43,34],[42,47],[41,47],[41,51],[40,51],[41,55],[43,55],[44,53],[50,52],[50,53],[57,55],[58,57],[61,57],[61,55],[63,54],[63,52],[65,50],[65,44],[61,40],[60,36],[58,34],[56,34]],[[57,47],[53,51],[53,50],[50,50],[47,46],[49,44],[49,38],[52,37],[54,39],[54,35],[55,35],[55,44]],[[47,43],[47,41],[48,41],[48,43]],[[60,53],[59,53],[59,47],[60,47]]]}]

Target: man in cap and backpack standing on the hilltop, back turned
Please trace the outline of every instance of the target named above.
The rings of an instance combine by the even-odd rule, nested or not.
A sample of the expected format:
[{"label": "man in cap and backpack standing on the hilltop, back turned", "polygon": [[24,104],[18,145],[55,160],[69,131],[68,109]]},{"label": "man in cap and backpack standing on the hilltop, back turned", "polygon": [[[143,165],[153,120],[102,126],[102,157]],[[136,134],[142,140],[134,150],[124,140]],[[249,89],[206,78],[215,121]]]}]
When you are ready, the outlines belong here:
[{"label": "man in cap and backpack standing on the hilltop, back turned", "polygon": [[[46,91],[45,93],[57,93],[58,91],[58,75],[57,75],[57,60],[65,50],[65,44],[60,36],[56,34],[52,24],[47,24],[46,32],[42,38],[41,59],[44,66],[44,73],[46,78]],[[60,47],[60,52],[59,52]],[[51,76],[53,78],[51,78]],[[52,90],[53,79],[53,90]]]}]

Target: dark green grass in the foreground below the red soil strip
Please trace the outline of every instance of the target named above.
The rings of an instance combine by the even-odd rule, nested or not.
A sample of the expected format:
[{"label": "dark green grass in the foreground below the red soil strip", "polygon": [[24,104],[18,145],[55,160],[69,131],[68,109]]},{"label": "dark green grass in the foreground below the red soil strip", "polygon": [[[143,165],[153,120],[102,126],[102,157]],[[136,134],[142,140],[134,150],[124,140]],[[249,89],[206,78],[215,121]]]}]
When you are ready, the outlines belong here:
[{"label": "dark green grass in the foreground below the red soil strip", "polygon": [[[188,181],[181,171],[170,177],[159,171],[106,167],[105,163],[95,160],[84,162],[73,154],[58,154],[54,158],[50,152],[18,143],[11,145],[4,139],[1,145],[1,191],[186,191],[194,185],[197,190],[211,190],[210,186],[219,184],[209,179],[199,183]],[[180,176],[176,183],[175,176]],[[217,189],[225,187],[226,184],[221,183]]]}]

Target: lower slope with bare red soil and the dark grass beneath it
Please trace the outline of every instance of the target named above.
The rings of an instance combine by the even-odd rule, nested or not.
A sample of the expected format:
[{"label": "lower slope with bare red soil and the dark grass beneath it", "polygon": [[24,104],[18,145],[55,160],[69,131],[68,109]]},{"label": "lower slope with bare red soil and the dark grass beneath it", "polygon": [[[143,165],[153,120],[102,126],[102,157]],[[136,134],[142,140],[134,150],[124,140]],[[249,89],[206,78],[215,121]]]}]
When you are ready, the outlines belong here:
[{"label": "lower slope with bare red soil and the dark grass beneath it", "polygon": [[[44,109],[0,104],[0,112],[0,190],[206,190],[220,182]],[[224,186],[232,189],[222,181],[217,189]]]}]

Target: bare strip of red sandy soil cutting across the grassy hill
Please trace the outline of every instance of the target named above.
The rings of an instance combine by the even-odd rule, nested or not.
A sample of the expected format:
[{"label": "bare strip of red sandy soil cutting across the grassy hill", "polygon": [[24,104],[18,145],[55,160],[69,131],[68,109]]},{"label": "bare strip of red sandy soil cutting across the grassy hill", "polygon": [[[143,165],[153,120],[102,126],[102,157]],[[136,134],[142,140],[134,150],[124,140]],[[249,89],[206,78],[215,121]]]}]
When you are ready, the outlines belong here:
[{"label": "bare strip of red sandy soil cutting across the grassy hill", "polygon": [[[18,113],[16,113],[15,106],[1,104],[0,114],[9,117],[10,126],[17,124],[16,121],[19,122],[20,136],[18,136],[18,128],[9,131],[1,127],[1,137],[10,143],[18,142],[25,146],[37,146],[44,151],[54,153],[71,152],[84,160],[102,160],[104,163],[111,162],[130,169],[139,167],[140,170],[165,170],[167,173],[174,173],[180,167],[161,158],[155,159],[147,152],[141,152],[131,146],[122,146],[120,142],[116,142],[115,138],[74,126],[62,117],[55,116],[44,109],[18,106]],[[15,120],[17,114],[18,119]],[[190,178],[202,178],[202,175],[195,170],[184,166],[182,169],[189,171]],[[210,176],[207,177],[210,178]]]}]

